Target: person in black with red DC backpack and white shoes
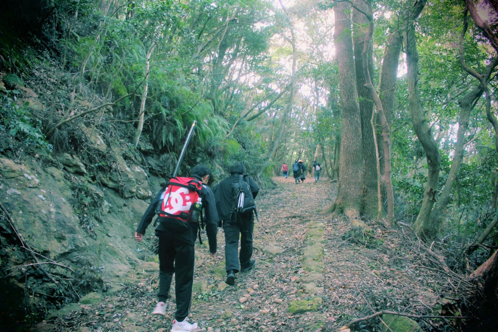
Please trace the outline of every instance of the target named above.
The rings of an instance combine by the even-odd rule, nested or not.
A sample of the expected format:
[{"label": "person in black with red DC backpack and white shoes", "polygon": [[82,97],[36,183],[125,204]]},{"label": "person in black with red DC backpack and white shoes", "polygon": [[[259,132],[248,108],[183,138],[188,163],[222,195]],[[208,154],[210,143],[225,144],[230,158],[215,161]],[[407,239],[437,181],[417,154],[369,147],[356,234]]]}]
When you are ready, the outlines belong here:
[{"label": "person in black with red DC backpack and white shoes", "polygon": [[[159,292],[157,294],[158,301],[152,314],[166,314],[166,301],[170,298],[169,289],[174,273],[176,313],[171,332],[192,331],[197,328],[197,323],[189,323],[187,317],[192,298],[194,243],[198,230],[197,220],[192,220],[196,211],[192,207],[199,208],[197,213],[200,213],[201,209],[195,203],[191,203],[191,197],[196,198],[198,203],[202,202],[209,252],[211,257],[214,257],[216,253],[218,213],[213,192],[205,185],[210,175],[211,170],[207,166],[197,165],[192,169],[192,175],[189,178],[172,178],[169,185],[162,188],[150,202],[135,232],[135,239],[140,242],[145,234],[145,229],[155,215],[156,206],[161,204],[161,214],[154,222],[155,232],[159,237]],[[175,182],[175,179],[189,181],[190,187],[182,185],[181,181]]]}]

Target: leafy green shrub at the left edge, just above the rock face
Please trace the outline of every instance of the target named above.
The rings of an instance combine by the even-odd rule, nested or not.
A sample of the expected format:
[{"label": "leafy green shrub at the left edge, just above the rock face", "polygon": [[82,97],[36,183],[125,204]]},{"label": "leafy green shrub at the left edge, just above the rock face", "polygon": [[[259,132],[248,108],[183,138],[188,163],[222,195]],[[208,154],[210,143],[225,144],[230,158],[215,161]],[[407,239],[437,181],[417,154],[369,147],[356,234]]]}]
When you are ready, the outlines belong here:
[{"label": "leafy green shrub at the left edge, just above the rock face", "polygon": [[42,132],[41,121],[33,117],[29,103],[22,106],[15,103],[17,90],[8,90],[0,100],[0,152],[6,148],[14,149],[18,144],[27,148],[45,149],[52,151]]}]

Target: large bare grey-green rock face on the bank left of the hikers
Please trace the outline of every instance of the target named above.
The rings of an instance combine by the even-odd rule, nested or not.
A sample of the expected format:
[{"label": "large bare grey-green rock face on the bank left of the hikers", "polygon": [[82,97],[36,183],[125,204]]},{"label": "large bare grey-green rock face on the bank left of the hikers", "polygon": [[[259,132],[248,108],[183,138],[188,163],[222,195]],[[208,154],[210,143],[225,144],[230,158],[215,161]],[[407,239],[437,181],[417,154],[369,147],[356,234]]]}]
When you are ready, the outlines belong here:
[{"label": "large bare grey-green rock face on the bank left of the hikers", "polygon": [[[128,167],[125,174],[128,188],[134,188],[133,197],[124,199],[119,192],[98,187],[91,183],[85,166],[77,157],[64,154],[57,158],[64,170],[55,166],[42,166],[38,160],[27,160],[24,164],[0,157],[0,195],[3,207],[12,217],[17,231],[35,252],[53,261],[85,272],[93,269],[107,280],[123,277],[130,268],[140,261],[136,256],[136,241],[133,231],[148,206],[140,198],[150,197],[150,190],[144,170],[137,165]],[[121,159],[123,167],[125,162]],[[71,177],[65,176],[69,171]],[[69,180],[71,178],[71,180]],[[123,180],[122,180],[123,181]],[[125,182],[125,181],[124,181]],[[75,187],[75,184],[78,186]],[[116,188],[120,190],[120,188]],[[83,192],[79,192],[84,190]],[[128,193],[132,190],[128,189]],[[139,194],[137,194],[139,193]],[[78,194],[80,196],[78,196]],[[82,195],[86,196],[82,196]],[[93,209],[85,210],[85,198],[95,202]],[[7,275],[6,269],[26,264],[26,251],[19,247],[19,240],[5,218],[0,218],[0,272]],[[39,256],[40,261],[46,259]],[[62,275],[71,272],[63,267],[47,264],[50,271],[57,270]],[[13,269],[14,273],[0,281],[0,310],[9,313],[12,322],[25,316],[24,274]],[[10,270],[11,272],[12,270]],[[34,271],[34,272],[33,272]],[[28,272],[41,272],[28,268]],[[42,280],[42,278],[40,278]],[[53,294],[57,286],[50,282],[31,281],[30,288]],[[36,292],[34,294],[37,294]],[[84,295],[81,294],[81,295]],[[37,306],[41,299],[35,295],[31,305]]]}]

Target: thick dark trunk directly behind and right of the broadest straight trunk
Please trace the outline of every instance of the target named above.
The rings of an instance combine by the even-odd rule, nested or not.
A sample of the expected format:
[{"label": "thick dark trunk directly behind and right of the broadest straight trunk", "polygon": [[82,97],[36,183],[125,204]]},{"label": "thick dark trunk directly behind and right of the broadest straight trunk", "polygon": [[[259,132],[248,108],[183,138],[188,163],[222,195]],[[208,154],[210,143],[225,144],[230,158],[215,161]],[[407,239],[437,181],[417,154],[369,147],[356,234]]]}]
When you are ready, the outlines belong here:
[{"label": "thick dark trunk directly behind and right of the broadest straight trunk", "polygon": [[[355,5],[367,11],[367,4],[364,0],[355,0]],[[361,116],[361,135],[363,144],[363,207],[362,214],[368,219],[375,219],[377,217],[377,160],[375,156],[375,146],[373,143],[373,131],[370,124],[373,111],[373,101],[369,90],[365,84],[366,76],[363,68],[362,52],[364,41],[366,37],[366,26],[368,25],[367,16],[364,13],[353,9],[353,22],[355,23],[354,29],[354,54],[355,54],[355,69],[356,69],[356,89],[360,98],[360,116]],[[368,70],[370,75],[373,74],[373,58],[372,47],[369,47],[366,54],[368,58]]]}]

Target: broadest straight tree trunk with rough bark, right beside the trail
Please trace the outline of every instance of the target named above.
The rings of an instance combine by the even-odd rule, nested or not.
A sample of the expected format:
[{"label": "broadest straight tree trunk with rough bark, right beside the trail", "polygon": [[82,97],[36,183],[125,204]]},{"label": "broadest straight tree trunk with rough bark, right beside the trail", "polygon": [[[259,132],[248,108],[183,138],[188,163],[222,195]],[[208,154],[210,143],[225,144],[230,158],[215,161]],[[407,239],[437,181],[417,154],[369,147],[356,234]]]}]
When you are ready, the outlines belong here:
[{"label": "broadest straight tree trunk with rough bark, right beside the trail", "polygon": [[356,90],[353,41],[351,37],[351,4],[339,2],[335,12],[335,44],[339,62],[339,86],[343,105],[339,188],[332,211],[359,218],[363,198],[363,144],[358,92]]}]

